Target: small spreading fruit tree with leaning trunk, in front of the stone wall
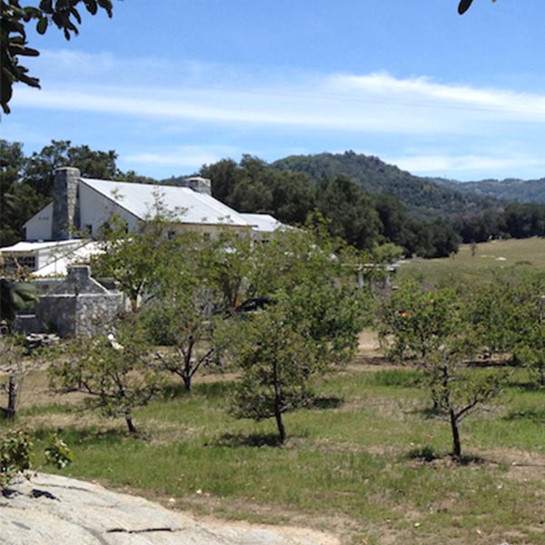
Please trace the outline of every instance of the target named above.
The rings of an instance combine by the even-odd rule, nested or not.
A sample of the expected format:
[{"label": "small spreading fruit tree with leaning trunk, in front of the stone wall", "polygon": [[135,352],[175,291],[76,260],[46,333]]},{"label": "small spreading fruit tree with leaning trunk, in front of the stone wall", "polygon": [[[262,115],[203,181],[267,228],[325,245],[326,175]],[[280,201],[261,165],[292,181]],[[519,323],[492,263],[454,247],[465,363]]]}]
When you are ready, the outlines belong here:
[{"label": "small spreading fruit tree with leaning trunk, in front of the stone wall", "polygon": [[128,430],[135,433],[134,410],[163,388],[163,377],[150,364],[150,353],[138,317],[124,316],[113,333],[62,345],[50,368],[52,385],[58,391],[88,394],[89,408],[109,418],[124,418]]}]

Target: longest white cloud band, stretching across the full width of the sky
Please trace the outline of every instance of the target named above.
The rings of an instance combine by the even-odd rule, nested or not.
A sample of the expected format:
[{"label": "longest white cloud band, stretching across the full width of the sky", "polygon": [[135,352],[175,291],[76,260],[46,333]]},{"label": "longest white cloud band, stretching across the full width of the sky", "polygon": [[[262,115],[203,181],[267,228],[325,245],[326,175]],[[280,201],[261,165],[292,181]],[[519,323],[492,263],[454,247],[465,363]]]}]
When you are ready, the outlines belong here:
[{"label": "longest white cloud band, stretching across the full width of the sky", "polygon": [[54,81],[41,91],[17,89],[16,107],[353,133],[475,134],[501,122],[545,123],[545,95],[426,77],[300,73],[263,80],[232,66],[74,51],[46,52],[45,66]]}]

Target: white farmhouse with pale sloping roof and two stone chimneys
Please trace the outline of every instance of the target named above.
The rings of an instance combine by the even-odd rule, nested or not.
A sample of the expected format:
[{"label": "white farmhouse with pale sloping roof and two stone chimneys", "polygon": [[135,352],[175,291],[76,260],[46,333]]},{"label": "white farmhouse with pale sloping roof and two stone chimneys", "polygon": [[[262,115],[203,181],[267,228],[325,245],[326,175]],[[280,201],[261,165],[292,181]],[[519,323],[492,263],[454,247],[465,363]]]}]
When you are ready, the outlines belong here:
[{"label": "white farmhouse with pale sloping roof and two stone chimneys", "polygon": [[74,250],[83,245],[89,251],[92,245],[86,243],[99,235],[113,214],[131,233],[158,210],[167,213],[167,235],[191,230],[208,237],[229,230],[266,241],[282,226],[268,214],[238,213],[214,199],[210,180],[198,176],[185,180],[184,186],[171,186],[82,178],[78,169],[63,167],[55,171],[53,202],[24,225],[26,242],[2,248],[1,257],[40,270],[40,275],[62,274],[70,259],[59,261],[60,257],[78,257]]}]

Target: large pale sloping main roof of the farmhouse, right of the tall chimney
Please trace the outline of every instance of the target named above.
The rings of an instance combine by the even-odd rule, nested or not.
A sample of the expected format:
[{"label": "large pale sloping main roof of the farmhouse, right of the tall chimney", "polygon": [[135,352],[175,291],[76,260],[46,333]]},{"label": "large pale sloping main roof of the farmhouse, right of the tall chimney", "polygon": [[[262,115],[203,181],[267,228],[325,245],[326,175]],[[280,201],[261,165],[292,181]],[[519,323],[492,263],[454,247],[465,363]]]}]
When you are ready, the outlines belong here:
[{"label": "large pale sloping main roof of the farmhouse, right of the tall chimney", "polygon": [[103,194],[141,220],[156,213],[156,203],[174,214],[180,223],[228,224],[249,227],[243,216],[213,196],[187,187],[152,183],[109,182],[80,178],[80,183]]}]

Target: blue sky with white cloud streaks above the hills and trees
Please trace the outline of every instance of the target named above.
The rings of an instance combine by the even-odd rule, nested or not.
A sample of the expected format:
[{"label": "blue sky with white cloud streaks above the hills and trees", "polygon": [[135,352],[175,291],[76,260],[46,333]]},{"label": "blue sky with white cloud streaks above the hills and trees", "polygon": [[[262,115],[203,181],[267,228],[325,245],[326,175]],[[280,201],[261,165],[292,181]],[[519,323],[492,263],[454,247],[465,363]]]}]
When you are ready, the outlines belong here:
[{"label": "blue sky with white cloud streaks above the hills and trees", "polygon": [[[25,2],[22,2],[25,5]],[[155,178],[357,153],[458,180],[545,176],[545,1],[114,0],[30,33],[2,137],[114,149]]]}]

